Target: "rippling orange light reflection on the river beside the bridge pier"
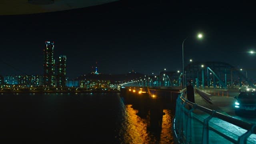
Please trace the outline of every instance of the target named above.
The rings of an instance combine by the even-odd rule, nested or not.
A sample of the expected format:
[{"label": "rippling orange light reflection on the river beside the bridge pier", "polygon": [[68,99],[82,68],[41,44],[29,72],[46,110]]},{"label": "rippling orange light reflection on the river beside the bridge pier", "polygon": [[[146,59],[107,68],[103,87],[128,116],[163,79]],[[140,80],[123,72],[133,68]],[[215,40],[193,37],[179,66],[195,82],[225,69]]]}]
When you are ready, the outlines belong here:
[{"label": "rippling orange light reflection on the river beside the bridge pier", "polygon": [[123,105],[123,122],[120,129],[121,144],[173,144],[172,111],[164,109],[162,130],[160,134],[147,129],[148,118],[143,119],[136,115],[138,110],[132,104]]}]

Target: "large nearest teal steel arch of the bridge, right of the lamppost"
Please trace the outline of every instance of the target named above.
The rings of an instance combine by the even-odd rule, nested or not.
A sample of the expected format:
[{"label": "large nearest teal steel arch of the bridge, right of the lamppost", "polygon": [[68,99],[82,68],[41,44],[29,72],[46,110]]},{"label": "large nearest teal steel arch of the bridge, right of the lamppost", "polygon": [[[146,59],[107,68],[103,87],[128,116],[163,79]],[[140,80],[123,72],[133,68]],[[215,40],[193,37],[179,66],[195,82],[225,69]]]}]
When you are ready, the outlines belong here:
[{"label": "large nearest teal steel arch of the bridge, right of the lamppost", "polygon": [[196,87],[232,88],[253,83],[238,68],[226,62],[191,62],[184,68],[185,81]]}]

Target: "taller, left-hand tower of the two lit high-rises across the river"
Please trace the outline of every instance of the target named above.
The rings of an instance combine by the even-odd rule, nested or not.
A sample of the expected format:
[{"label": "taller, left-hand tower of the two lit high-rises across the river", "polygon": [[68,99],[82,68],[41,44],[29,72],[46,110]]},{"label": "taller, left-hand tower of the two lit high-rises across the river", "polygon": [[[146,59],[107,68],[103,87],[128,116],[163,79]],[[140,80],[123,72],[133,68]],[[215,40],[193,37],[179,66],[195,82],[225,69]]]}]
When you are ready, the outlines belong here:
[{"label": "taller, left-hand tower of the two lit high-rises across the river", "polygon": [[44,46],[44,86],[55,86],[54,66],[54,42],[45,41]]}]

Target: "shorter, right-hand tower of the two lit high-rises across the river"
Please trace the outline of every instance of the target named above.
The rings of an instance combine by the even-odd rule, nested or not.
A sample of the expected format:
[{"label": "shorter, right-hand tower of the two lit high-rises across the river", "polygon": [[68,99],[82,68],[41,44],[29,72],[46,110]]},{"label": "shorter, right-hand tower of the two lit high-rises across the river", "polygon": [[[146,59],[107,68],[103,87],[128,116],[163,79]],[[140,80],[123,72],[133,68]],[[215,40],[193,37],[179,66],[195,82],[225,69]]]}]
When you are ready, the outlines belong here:
[{"label": "shorter, right-hand tower of the two lit high-rises across the river", "polygon": [[56,83],[58,87],[66,86],[66,60],[66,56],[64,55],[61,55],[58,58],[56,78]]}]

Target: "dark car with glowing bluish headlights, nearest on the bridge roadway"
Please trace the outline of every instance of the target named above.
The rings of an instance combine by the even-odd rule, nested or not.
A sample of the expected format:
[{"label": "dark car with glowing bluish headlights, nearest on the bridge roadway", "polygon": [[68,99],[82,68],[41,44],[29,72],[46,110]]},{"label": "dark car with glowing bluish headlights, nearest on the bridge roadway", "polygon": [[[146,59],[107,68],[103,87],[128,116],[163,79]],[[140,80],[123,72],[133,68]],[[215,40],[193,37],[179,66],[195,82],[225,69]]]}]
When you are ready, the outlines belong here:
[{"label": "dark car with glowing bluish headlights, nearest on the bridge roadway", "polygon": [[255,112],[256,111],[256,92],[244,91],[240,92],[236,98],[234,107],[235,113],[238,114],[242,111]]}]

